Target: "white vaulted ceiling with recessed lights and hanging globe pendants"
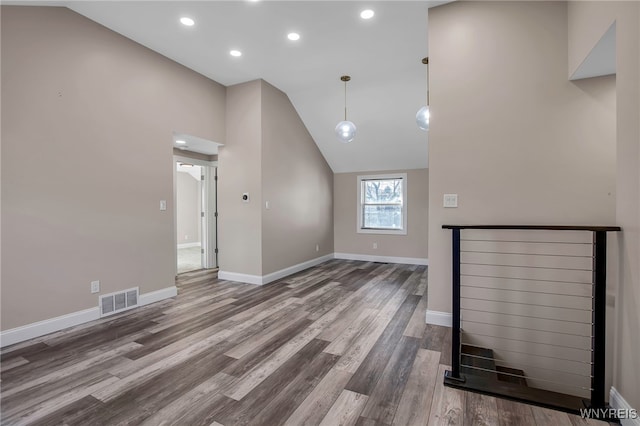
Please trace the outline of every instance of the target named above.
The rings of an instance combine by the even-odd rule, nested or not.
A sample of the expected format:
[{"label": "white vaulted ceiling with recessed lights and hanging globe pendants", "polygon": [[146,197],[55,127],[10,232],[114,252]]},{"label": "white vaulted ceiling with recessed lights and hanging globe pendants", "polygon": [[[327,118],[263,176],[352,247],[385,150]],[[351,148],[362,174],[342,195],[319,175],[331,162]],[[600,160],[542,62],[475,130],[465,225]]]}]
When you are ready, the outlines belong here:
[{"label": "white vaulted ceiling with recessed lights and hanging globe pendants", "polygon": [[[70,1],[70,9],[225,86],[285,92],[334,172],[427,167],[425,1]],[[54,3],[48,3],[54,4]],[[361,11],[375,15],[368,20]],[[195,21],[180,23],[181,17]],[[296,32],[298,41],[287,35]],[[234,57],[237,49],[242,56]],[[339,142],[348,74],[356,139]],[[198,136],[198,135],[194,135]]]}]

